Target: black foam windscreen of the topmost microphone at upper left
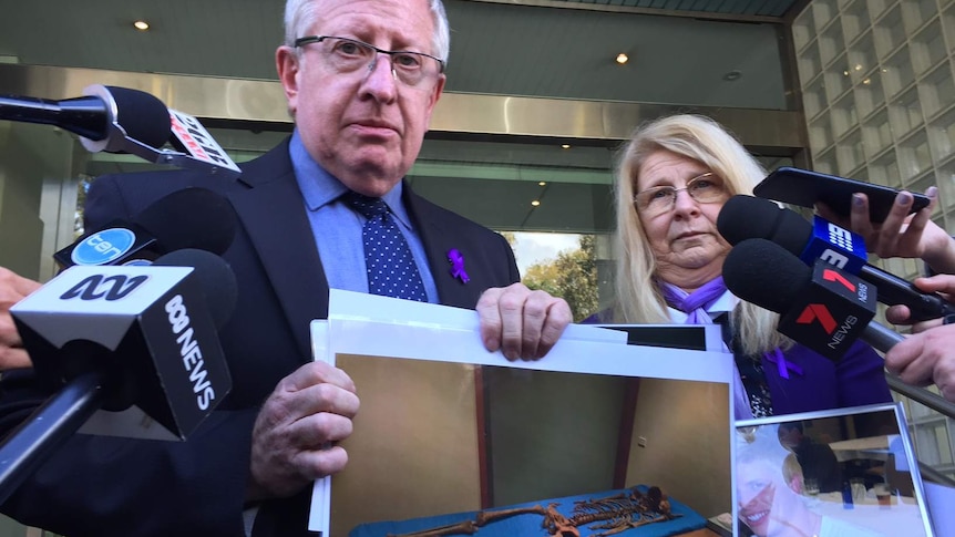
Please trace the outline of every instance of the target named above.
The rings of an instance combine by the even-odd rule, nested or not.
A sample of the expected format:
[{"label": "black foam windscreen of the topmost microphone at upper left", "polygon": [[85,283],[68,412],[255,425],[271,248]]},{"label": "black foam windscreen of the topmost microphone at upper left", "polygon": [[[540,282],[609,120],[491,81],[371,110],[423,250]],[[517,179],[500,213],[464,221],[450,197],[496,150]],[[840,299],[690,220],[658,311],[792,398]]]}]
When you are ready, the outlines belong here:
[{"label": "black foam windscreen of the topmost microphone at upper left", "polygon": [[105,86],[116,103],[116,123],[126,136],[158,149],[172,136],[170,110],[154,95],[129,87]]}]

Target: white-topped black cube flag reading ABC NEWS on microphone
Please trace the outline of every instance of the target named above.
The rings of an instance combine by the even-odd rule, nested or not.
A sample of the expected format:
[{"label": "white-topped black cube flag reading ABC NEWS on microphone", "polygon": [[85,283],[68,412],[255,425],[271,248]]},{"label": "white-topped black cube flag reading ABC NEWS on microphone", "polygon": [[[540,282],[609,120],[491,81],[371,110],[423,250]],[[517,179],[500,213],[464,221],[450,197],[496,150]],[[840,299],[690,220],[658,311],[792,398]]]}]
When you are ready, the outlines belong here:
[{"label": "white-topped black cube flag reading ABC NEWS on microphone", "polygon": [[107,397],[114,395],[105,410],[132,404],[165,431],[102,412],[91,422],[105,417],[106,434],[185,440],[232,389],[194,270],[75,266],[61,272],[10,309],[38,376],[57,389],[76,374],[103,372],[113,384]]}]

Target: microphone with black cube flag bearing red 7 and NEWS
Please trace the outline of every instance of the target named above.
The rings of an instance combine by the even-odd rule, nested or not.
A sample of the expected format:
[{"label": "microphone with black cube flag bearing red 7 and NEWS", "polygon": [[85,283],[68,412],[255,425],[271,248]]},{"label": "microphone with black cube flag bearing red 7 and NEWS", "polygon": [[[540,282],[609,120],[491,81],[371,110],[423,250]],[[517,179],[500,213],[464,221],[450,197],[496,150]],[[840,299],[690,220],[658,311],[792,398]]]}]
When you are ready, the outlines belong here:
[{"label": "microphone with black cube flag bearing red 7 and NEWS", "polygon": [[737,297],[779,313],[780,333],[830,360],[841,359],[860,338],[882,352],[902,341],[872,321],[873,286],[822,260],[809,268],[776,242],[740,241],[727,255],[722,277]]}]

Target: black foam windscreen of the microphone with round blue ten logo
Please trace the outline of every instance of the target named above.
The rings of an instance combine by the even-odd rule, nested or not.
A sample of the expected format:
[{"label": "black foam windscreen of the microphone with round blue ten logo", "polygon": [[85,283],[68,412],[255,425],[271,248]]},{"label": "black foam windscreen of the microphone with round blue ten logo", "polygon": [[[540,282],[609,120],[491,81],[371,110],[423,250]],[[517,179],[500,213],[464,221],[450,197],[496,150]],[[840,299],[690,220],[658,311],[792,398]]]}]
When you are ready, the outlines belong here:
[{"label": "black foam windscreen of the microphone with round blue ten logo", "polygon": [[196,248],[224,254],[235,237],[232,204],[206,188],[184,188],[167,194],[133,217],[155,237],[163,251]]}]

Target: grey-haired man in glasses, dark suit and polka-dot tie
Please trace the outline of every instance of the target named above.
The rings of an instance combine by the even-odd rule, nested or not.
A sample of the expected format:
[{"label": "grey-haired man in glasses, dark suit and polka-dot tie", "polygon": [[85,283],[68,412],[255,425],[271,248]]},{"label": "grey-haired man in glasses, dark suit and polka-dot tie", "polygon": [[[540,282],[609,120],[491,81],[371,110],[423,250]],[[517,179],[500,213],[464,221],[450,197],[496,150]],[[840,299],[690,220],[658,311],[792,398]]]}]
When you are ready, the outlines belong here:
[{"label": "grey-haired man in glasses, dark suit and polka-dot tie", "polygon": [[[359,407],[348,375],[311,362],[308,341],[309,321],[328,313],[329,287],[368,290],[366,218],[349,190],[384,199],[424,299],[476,306],[490,351],[536,359],[550,350],[569,322],[566,302],[514,283],[503,238],[402,184],[444,86],[448,34],[439,0],[289,0],[276,53],[296,120],[289,142],[244,165],[238,179],[176,172],[93,185],[93,229],[187,186],[233,204],[239,229],[224,257],[238,303],[220,330],[233,392],[185,443],[74,436],[4,513],[70,536],[242,536],[253,519],[253,535],[305,535],[309,485],[345,468],[336,443]],[[469,281],[449,272],[451,249]],[[28,380],[8,373],[0,425],[42,395]]]}]

